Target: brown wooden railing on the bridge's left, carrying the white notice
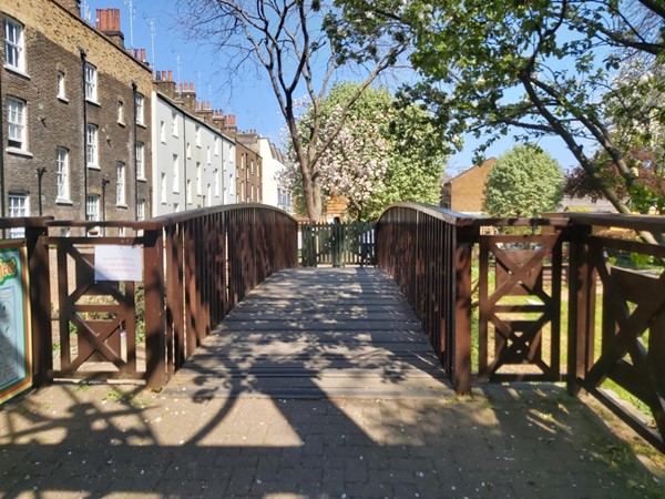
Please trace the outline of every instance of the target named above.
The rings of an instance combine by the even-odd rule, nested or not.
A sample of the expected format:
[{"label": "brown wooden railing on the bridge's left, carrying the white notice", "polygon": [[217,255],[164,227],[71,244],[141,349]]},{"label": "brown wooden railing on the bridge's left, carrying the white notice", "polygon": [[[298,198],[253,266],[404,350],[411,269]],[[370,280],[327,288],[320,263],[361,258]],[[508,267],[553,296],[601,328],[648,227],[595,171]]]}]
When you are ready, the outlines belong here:
[{"label": "brown wooden railing on the bridge's left, carrying the white notice", "polygon": [[[264,205],[145,222],[1,221],[9,226],[27,227],[38,385],[120,378],[160,388],[253,287],[297,265],[297,222]],[[142,279],[95,276],[102,246],[140,248]]]}]

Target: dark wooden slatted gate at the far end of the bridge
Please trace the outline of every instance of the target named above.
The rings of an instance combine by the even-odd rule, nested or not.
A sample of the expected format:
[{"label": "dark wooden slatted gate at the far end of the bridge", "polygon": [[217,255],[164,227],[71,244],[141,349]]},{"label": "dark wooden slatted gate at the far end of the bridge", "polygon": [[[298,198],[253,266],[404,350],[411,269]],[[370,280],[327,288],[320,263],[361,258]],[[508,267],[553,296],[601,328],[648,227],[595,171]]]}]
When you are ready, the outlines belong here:
[{"label": "dark wooden slatted gate at the far end of the bridge", "polygon": [[317,265],[376,265],[374,222],[301,224],[304,267]]}]

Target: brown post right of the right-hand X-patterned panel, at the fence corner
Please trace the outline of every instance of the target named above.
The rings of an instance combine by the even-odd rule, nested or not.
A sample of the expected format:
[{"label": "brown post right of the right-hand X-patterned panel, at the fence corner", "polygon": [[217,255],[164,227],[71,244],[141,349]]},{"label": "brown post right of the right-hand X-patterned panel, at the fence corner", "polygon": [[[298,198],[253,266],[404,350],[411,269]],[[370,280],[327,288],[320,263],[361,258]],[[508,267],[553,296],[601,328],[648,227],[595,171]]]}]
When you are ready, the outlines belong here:
[{"label": "brown post right of the right-hand X-patterned panel, at the fence corner", "polygon": [[580,391],[593,364],[595,328],[595,277],[589,245],[590,226],[570,230],[569,255],[569,352],[566,385],[571,395]]}]

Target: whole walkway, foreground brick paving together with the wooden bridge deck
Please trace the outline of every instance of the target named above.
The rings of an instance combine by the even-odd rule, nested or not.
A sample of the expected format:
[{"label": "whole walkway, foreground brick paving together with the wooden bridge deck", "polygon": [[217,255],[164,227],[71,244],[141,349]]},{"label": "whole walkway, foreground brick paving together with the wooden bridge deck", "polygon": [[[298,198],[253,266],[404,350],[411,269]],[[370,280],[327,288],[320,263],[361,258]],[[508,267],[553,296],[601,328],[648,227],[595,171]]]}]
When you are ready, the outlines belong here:
[{"label": "whole walkway, foreground brick paving together with the wooden bridge deck", "polygon": [[458,399],[405,313],[374,269],[274,276],[161,394],[55,385],[3,407],[0,496],[663,497],[560,387]]}]

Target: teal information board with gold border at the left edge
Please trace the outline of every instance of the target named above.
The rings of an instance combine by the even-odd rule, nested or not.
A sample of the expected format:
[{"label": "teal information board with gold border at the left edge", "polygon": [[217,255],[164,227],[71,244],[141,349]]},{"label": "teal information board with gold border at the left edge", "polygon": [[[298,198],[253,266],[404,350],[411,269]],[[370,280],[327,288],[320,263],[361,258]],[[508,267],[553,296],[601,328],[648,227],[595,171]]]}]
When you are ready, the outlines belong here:
[{"label": "teal information board with gold border at the left edge", "polygon": [[0,243],[0,403],[32,386],[25,244]]}]

